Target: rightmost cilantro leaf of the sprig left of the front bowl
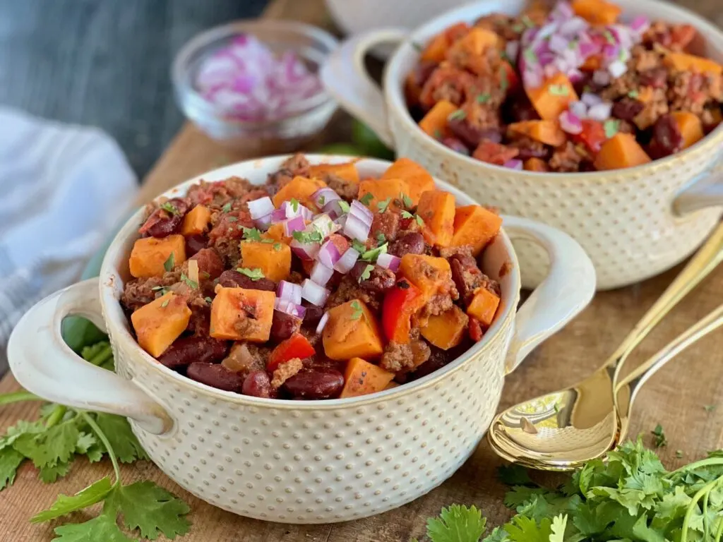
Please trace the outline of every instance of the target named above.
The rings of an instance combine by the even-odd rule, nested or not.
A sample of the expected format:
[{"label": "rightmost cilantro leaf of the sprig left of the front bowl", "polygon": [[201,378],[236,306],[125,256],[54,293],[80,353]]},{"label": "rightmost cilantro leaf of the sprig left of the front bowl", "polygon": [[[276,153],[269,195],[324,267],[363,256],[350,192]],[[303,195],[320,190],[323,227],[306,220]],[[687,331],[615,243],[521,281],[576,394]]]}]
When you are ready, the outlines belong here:
[{"label": "rightmost cilantro leaf of the sprig left of the front bowl", "polygon": [[116,486],[103,506],[103,515],[122,514],[127,528],[140,529],[150,540],[161,533],[168,538],[188,533],[190,522],[185,516],[190,511],[188,504],[151,481]]}]

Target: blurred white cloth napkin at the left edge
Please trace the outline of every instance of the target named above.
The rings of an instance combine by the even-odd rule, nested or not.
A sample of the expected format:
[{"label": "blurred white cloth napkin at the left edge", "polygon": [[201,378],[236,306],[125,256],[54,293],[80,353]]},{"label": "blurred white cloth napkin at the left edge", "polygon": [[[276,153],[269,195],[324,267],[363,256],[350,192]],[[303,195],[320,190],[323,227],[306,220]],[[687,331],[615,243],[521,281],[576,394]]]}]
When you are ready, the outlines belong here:
[{"label": "blurred white cloth napkin at the left edge", "polygon": [[0,374],[22,314],[80,278],[136,191],[105,132],[0,108]]}]

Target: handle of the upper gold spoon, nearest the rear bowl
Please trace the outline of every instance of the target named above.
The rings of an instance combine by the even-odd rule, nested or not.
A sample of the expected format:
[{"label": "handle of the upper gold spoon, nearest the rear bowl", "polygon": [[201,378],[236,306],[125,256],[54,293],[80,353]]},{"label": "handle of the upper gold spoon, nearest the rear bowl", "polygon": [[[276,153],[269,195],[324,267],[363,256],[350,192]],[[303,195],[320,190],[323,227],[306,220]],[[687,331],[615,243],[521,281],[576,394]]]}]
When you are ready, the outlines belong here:
[{"label": "handle of the upper gold spoon, nearest the rear bowl", "polygon": [[640,321],[628,333],[623,343],[610,356],[608,364],[615,369],[613,382],[617,382],[620,369],[630,352],[648,335],[648,333],[675,307],[678,302],[706,278],[709,273],[723,260],[723,223],[719,223],[708,240],[701,246],[695,256],[690,259],[675,280],[670,283],[663,295],[643,315]]}]

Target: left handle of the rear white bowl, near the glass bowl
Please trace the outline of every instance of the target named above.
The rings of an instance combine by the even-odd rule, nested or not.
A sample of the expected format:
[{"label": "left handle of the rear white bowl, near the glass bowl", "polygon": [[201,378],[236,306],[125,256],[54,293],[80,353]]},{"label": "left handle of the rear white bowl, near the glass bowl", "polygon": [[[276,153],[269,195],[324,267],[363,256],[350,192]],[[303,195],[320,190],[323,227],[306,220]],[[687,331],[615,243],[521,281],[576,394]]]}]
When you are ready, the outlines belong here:
[{"label": "left handle of the rear white bowl, near the glass bowl", "polygon": [[386,118],[384,95],[364,67],[364,55],[379,43],[401,43],[408,37],[402,28],[382,28],[355,35],[335,49],[321,69],[328,93],[351,115],[371,128],[382,142],[394,148]]}]

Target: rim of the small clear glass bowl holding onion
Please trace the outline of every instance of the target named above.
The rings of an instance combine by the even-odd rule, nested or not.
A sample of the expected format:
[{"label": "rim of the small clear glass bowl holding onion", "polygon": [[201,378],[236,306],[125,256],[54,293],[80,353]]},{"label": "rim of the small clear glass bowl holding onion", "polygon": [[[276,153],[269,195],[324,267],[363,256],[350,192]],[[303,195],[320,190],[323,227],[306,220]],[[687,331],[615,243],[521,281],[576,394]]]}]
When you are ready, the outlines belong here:
[{"label": "rim of the small clear glass bowl holding onion", "polygon": [[[206,115],[210,115],[219,119],[231,126],[239,126],[244,128],[263,128],[265,126],[273,126],[282,122],[290,121],[292,119],[298,119],[301,116],[313,111],[322,106],[328,105],[332,102],[331,95],[325,90],[323,85],[320,87],[319,92],[315,95],[309,96],[301,100],[294,110],[290,111],[286,116],[279,119],[273,119],[268,121],[241,121],[226,116],[225,111],[213,103],[202,97],[194,85],[190,81],[188,72],[188,63],[192,56],[200,49],[205,46],[209,46],[218,40],[224,40],[230,38],[236,34],[253,34],[254,30],[282,30],[288,33],[294,33],[297,35],[306,35],[311,38],[315,38],[320,41],[328,51],[324,53],[328,56],[331,51],[338,47],[338,40],[323,30],[320,27],[314,25],[308,25],[305,22],[290,21],[290,20],[274,20],[274,19],[260,19],[260,20],[239,20],[228,22],[223,25],[217,25],[211,27],[208,30],[204,30],[201,33],[194,35],[179,49],[178,53],[174,57],[174,61],[171,64],[171,81],[176,88],[176,94],[179,95],[179,106],[185,110],[183,104],[184,99],[189,100],[194,108]],[[263,40],[260,39],[263,42]],[[181,95],[182,94],[182,95]]]}]

